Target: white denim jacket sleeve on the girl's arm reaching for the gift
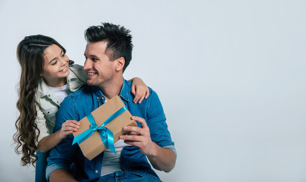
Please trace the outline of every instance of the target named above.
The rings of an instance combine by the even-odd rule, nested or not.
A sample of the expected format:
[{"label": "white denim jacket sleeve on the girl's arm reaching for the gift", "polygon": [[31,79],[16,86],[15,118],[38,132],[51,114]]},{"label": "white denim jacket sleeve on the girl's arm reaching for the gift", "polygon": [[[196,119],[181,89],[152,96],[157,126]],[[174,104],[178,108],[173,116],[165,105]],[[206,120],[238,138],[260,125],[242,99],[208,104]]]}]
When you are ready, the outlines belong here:
[{"label": "white denim jacket sleeve on the girl's arm reaching for the gift", "polygon": [[[43,111],[36,105],[37,117],[36,117],[36,124],[37,128],[40,131],[38,136],[38,142],[41,141],[45,136],[48,136],[50,133],[47,128],[46,119]],[[38,134],[38,130],[36,130],[36,134]],[[36,146],[38,145],[37,141],[35,140]]]}]

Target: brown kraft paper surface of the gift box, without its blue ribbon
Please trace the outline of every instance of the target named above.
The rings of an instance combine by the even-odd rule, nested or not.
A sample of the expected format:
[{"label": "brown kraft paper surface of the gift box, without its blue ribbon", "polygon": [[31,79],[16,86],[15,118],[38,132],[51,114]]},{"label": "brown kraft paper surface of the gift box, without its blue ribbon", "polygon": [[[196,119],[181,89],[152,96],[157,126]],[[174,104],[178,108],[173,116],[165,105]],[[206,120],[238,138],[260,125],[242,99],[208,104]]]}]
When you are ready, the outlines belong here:
[{"label": "brown kraft paper surface of the gift box, without its blue ribbon", "polygon": [[[119,96],[115,96],[105,104],[101,105],[100,107],[92,111],[91,114],[95,120],[96,125],[101,126],[101,124],[103,124],[104,121],[106,121],[111,115],[113,115],[116,111],[118,111],[124,106],[125,105],[121,101]],[[109,128],[113,132],[114,143],[116,143],[119,140],[120,135],[129,133],[129,131],[123,130],[123,126],[126,125],[138,126],[138,124],[131,119],[131,116],[132,115],[130,114],[130,112],[126,110],[104,126]],[[74,136],[77,136],[90,128],[91,123],[89,122],[87,117],[84,117],[79,122],[80,122],[80,128],[78,129],[78,131],[73,132]],[[94,157],[102,153],[104,150],[106,150],[105,145],[101,141],[98,130],[94,131],[94,133],[91,136],[89,136],[88,139],[82,142],[79,146],[84,156],[89,160],[93,159]]]}]

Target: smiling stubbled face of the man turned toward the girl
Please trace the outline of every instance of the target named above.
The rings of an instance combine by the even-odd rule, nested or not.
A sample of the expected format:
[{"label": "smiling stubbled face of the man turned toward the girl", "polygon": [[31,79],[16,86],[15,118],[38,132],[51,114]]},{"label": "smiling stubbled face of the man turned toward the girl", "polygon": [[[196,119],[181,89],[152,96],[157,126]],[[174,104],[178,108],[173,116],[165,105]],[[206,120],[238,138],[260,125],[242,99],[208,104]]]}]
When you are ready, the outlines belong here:
[{"label": "smiling stubbled face of the man turned toward the girl", "polygon": [[84,53],[84,70],[87,71],[87,84],[103,86],[111,83],[115,73],[115,62],[105,54],[106,41],[88,42]]}]

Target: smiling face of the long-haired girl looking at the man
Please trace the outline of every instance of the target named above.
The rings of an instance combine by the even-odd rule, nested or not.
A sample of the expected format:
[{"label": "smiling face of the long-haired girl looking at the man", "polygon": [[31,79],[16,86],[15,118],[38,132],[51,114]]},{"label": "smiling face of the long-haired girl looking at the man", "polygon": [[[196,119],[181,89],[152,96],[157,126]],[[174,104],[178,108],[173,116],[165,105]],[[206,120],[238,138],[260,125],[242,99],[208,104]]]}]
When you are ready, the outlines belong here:
[{"label": "smiling face of the long-haired girl looking at the man", "polygon": [[[70,74],[68,69],[69,58],[56,44],[50,45],[44,51],[44,74],[43,77],[49,86],[54,86],[59,80],[64,80]],[[63,86],[63,85],[62,85]]]}]

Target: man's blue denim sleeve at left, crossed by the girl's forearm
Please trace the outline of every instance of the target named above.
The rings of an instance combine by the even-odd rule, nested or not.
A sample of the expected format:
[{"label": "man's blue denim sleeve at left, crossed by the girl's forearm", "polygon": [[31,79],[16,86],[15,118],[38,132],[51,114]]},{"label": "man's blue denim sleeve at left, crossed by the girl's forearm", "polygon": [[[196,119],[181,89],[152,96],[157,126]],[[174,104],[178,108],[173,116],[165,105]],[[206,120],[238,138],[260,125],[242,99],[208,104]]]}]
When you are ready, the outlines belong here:
[{"label": "man's blue denim sleeve at left, crossed by the girl's forearm", "polygon": [[[74,103],[70,96],[62,102],[56,113],[56,121],[53,132],[61,129],[62,123],[66,120],[79,120],[75,112]],[[50,151],[48,165],[46,167],[46,178],[49,180],[50,174],[56,169],[66,169],[70,171],[70,165],[74,160],[78,145],[72,145],[73,134],[69,134],[57,146]]]}]

